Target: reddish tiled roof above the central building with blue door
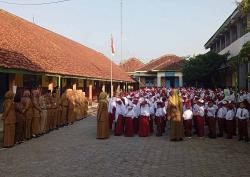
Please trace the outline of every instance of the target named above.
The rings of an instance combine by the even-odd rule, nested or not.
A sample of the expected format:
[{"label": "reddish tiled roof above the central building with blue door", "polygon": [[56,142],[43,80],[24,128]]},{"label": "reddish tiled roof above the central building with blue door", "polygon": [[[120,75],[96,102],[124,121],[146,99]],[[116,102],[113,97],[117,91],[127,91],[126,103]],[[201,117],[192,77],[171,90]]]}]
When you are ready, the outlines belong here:
[{"label": "reddish tiled roof above the central building with blue door", "polygon": [[151,60],[145,66],[137,69],[137,71],[179,71],[184,63],[184,59],[176,55],[164,55],[160,58]]}]

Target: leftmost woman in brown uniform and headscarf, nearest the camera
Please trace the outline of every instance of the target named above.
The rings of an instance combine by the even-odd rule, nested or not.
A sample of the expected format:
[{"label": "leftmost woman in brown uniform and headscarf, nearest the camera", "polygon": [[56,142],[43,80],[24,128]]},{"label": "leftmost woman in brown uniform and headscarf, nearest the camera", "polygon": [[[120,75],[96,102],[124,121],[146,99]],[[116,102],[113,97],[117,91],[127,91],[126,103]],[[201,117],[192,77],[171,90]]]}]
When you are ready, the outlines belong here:
[{"label": "leftmost woman in brown uniform and headscarf, nearest the camera", "polygon": [[14,93],[12,91],[6,92],[3,103],[4,112],[2,117],[4,122],[3,146],[6,148],[12,147],[15,144],[16,114],[13,98]]}]

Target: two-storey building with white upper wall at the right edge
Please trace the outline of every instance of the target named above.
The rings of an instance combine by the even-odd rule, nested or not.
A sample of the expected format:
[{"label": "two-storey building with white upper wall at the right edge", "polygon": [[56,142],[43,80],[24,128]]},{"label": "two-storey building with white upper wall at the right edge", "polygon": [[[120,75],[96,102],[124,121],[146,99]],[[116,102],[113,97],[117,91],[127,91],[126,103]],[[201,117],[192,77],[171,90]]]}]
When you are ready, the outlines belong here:
[{"label": "two-storey building with white upper wall at the right edge", "polygon": [[[218,54],[229,54],[228,60],[239,55],[242,46],[250,40],[250,13],[243,15],[237,8],[215,32],[215,34],[205,44],[206,49],[210,49]],[[236,69],[222,66],[223,86],[236,87],[237,80],[240,88],[250,88],[249,75],[250,63],[240,64],[237,78]]]}]

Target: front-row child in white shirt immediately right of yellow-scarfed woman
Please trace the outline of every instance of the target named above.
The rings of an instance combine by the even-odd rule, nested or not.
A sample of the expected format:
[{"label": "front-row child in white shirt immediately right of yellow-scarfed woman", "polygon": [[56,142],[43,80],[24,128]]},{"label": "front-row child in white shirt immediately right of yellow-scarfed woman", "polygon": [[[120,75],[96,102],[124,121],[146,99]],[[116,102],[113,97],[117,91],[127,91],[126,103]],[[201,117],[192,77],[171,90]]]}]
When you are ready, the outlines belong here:
[{"label": "front-row child in white shirt immediately right of yellow-scarfed woman", "polygon": [[191,109],[191,102],[188,101],[185,104],[186,110],[183,112],[183,119],[184,119],[184,133],[185,136],[188,138],[192,137],[192,119],[193,119],[193,111]]}]

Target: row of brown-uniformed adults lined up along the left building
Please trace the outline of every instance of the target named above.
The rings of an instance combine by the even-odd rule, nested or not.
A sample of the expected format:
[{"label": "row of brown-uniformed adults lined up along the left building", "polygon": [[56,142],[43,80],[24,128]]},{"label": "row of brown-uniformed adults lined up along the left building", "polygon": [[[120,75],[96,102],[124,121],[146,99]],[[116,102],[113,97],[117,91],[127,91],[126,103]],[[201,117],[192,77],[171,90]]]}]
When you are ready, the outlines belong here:
[{"label": "row of brown-uniformed adults lined up along the left building", "polygon": [[25,89],[5,94],[3,102],[3,146],[12,147],[37,138],[87,116],[88,101],[81,90]]}]

